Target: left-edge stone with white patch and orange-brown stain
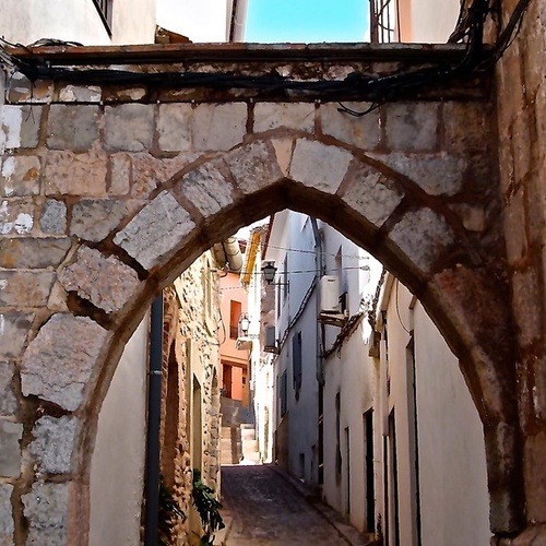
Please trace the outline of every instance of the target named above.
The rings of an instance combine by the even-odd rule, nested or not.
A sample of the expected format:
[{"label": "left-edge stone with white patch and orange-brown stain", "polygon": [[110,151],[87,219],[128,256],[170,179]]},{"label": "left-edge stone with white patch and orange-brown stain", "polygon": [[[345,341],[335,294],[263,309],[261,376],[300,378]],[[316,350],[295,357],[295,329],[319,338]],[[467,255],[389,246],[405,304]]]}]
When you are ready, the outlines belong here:
[{"label": "left-edge stone with white patch and orange-brown stain", "polygon": [[0,177],[2,195],[7,198],[39,193],[39,157],[20,155],[5,157]]}]

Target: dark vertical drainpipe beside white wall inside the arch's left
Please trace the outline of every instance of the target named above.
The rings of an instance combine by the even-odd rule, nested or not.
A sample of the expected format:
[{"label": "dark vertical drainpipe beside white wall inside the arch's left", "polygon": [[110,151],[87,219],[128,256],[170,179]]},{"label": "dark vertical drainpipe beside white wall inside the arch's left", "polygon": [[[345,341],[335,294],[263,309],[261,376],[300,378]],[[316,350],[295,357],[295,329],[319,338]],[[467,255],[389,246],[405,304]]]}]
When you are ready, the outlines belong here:
[{"label": "dark vertical drainpipe beside white wall inside the arch's left", "polygon": [[162,407],[163,365],[163,292],[152,304],[150,319],[150,378],[147,394],[146,442],[146,508],[144,514],[144,545],[157,545],[159,510],[159,426]]}]

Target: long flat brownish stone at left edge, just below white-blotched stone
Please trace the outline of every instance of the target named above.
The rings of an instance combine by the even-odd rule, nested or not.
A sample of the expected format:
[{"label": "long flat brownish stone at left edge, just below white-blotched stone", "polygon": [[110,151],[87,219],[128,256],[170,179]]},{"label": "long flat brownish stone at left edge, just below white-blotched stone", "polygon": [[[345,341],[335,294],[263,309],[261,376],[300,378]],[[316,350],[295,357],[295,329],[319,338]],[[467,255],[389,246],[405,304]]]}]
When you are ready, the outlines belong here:
[{"label": "long flat brownish stone at left edge, just below white-blotched stone", "polygon": [[68,237],[0,240],[0,268],[46,269],[59,265],[71,246]]}]

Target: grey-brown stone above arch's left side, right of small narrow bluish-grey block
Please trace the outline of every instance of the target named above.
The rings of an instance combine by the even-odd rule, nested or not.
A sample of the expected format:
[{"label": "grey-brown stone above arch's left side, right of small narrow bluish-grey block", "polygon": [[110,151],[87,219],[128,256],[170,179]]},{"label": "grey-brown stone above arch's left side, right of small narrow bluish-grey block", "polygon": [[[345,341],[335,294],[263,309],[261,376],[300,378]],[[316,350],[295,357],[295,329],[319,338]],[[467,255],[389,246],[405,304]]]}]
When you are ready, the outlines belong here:
[{"label": "grey-brown stone above arch's left side, right of small narrow bluish-grey block", "polygon": [[98,242],[127,216],[129,203],[115,199],[82,199],[72,207],[70,235]]}]

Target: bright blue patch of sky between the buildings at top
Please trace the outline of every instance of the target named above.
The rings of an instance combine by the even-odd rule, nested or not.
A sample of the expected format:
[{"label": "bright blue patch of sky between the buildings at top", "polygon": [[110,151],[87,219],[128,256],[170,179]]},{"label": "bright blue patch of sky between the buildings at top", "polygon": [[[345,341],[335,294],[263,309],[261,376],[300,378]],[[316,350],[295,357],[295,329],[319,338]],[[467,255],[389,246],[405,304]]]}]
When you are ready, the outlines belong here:
[{"label": "bright blue patch of sky between the buildings at top", "polygon": [[245,41],[363,41],[367,0],[248,0]]}]

